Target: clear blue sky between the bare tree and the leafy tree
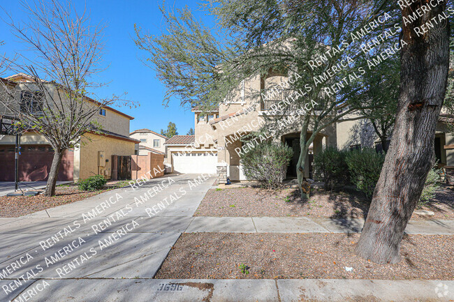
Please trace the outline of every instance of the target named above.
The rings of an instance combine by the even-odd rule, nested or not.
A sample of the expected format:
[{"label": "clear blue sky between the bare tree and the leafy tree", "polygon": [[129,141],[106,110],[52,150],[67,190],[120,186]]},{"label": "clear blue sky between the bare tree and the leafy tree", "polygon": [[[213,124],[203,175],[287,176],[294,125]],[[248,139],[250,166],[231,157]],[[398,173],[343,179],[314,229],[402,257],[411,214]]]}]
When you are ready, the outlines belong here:
[{"label": "clear blue sky between the bare tree and the leafy tree", "polygon": [[[84,2],[77,0],[80,8]],[[146,55],[138,50],[133,42],[134,24],[146,29],[149,33],[160,34],[162,29],[161,12],[159,5],[161,0],[87,0],[87,10],[91,14],[92,22],[106,22],[105,44],[106,52],[103,58],[110,67],[101,75],[103,82],[110,82],[108,87],[98,89],[98,96],[110,96],[112,93],[122,94],[127,92],[127,98],[140,103],[140,107],[130,109],[128,107],[115,107],[126,114],[134,116],[131,121],[131,131],[139,128],[149,128],[159,132],[166,129],[168,122],[173,121],[177,125],[180,135],[185,135],[189,128],[193,128],[193,113],[180,107],[180,101],[171,100],[168,107],[162,105],[165,87],[156,79],[154,70],[143,65],[139,60]],[[196,1],[191,0],[168,0],[166,6],[182,8],[185,5],[197,10]],[[15,1],[1,1],[0,6],[6,10],[15,20],[24,20],[27,15]],[[204,12],[194,11],[194,14],[203,18],[204,22],[212,22],[204,16]],[[2,15],[3,17],[3,15]],[[11,53],[21,50],[24,45],[17,43],[16,38],[10,33],[6,24],[0,21],[0,40],[6,45],[1,47],[2,52]],[[8,76],[8,75],[1,75]]]}]

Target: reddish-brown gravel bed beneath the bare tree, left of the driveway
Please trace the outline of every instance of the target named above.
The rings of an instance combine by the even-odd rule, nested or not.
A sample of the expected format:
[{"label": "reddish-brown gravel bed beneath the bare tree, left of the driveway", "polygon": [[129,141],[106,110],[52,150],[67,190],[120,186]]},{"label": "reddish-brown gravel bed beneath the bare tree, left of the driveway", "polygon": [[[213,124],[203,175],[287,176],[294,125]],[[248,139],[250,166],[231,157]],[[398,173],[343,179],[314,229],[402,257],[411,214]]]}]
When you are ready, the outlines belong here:
[{"label": "reddish-brown gravel bed beneath the bare tree, left of the driveway", "polygon": [[[71,204],[78,200],[98,195],[102,192],[116,188],[115,184],[108,184],[103,190],[98,191],[81,191],[75,183],[57,186],[55,196],[46,197],[44,195],[36,196],[0,196],[0,217],[19,217],[61,206],[62,204]],[[42,192],[43,190],[38,190]]]}]

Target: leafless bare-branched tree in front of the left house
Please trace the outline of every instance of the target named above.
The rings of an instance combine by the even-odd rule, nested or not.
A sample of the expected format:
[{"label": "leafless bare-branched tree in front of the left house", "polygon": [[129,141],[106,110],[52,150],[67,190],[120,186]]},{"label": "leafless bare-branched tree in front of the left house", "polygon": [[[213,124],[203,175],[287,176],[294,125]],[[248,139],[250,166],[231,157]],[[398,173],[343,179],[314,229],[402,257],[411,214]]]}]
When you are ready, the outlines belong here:
[{"label": "leafless bare-branched tree in front of the left house", "polygon": [[[9,60],[8,72],[24,73],[33,80],[20,83],[21,91],[4,85],[0,100],[22,125],[43,135],[54,149],[44,194],[55,194],[57,174],[64,152],[79,144],[87,131],[99,130],[98,110],[119,102],[117,96],[96,98],[91,89],[105,86],[92,82],[101,69],[103,25],[90,23],[86,11],[78,12],[71,1],[20,1],[27,20],[10,17],[9,27],[28,51]],[[91,96],[91,98],[90,98]]]}]

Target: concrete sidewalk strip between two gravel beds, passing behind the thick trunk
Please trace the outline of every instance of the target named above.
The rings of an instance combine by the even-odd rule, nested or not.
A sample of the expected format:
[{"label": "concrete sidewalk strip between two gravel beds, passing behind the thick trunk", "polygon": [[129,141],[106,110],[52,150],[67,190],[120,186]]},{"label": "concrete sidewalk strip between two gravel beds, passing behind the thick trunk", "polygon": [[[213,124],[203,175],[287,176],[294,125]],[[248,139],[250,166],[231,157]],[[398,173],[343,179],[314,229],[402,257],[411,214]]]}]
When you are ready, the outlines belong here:
[{"label": "concrete sidewalk strip between two gravel beds, passing behind the thick trunk", "polygon": [[[198,216],[193,218],[186,232],[360,233],[363,225],[363,219]],[[453,235],[454,220],[410,220],[405,233]]]}]

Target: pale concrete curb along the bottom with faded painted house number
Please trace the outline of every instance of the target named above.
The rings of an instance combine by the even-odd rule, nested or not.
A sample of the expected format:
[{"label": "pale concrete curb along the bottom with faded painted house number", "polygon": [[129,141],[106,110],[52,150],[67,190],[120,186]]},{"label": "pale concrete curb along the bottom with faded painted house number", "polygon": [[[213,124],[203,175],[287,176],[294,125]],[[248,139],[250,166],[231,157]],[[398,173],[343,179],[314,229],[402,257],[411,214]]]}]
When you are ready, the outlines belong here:
[{"label": "pale concrete curb along the bottom with faded painted house number", "polygon": [[[5,282],[0,281],[0,287]],[[454,299],[454,281],[444,280],[43,279],[34,281],[28,289],[43,282],[48,287],[37,291],[30,301],[448,302]]]}]

